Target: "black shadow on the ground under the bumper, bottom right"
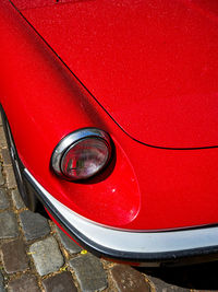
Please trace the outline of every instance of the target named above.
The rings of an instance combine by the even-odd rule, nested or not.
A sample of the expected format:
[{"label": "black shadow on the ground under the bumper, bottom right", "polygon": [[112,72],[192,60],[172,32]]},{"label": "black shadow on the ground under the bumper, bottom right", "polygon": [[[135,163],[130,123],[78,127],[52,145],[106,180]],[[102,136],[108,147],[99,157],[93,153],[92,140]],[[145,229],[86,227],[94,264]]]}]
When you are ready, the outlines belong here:
[{"label": "black shadow on the ground under the bumper, bottom right", "polygon": [[173,285],[175,290],[183,288],[218,291],[218,261],[184,267],[137,268],[137,270],[146,273],[159,289],[167,288],[167,284]]}]

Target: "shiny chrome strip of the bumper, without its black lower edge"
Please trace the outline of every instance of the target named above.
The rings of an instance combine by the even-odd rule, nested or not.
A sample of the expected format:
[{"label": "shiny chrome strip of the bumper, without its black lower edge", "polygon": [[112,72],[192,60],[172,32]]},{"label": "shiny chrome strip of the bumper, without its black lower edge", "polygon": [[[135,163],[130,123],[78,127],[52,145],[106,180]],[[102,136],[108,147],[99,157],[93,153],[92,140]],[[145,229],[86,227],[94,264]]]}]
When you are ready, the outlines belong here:
[{"label": "shiny chrome strip of the bumper, without its black lower edge", "polygon": [[55,199],[25,168],[31,183],[45,195],[65,221],[97,245],[125,253],[168,253],[218,246],[218,227],[164,232],[130,232],[97,225]]}]

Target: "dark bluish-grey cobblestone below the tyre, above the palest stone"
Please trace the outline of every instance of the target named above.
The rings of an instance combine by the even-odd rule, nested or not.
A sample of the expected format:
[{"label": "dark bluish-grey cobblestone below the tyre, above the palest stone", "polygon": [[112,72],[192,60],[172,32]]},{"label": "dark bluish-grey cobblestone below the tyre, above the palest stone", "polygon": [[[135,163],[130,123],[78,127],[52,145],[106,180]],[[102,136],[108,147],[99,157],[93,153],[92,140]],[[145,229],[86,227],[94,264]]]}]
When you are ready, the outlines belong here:
[{"label": "dark bluish-grey cobblestone below the tyre, above the palest stone", "polygon": [[50,232],[48,221],[38,213],[25,210],[20,213],[20,220],[26,241],[39,238]]}]

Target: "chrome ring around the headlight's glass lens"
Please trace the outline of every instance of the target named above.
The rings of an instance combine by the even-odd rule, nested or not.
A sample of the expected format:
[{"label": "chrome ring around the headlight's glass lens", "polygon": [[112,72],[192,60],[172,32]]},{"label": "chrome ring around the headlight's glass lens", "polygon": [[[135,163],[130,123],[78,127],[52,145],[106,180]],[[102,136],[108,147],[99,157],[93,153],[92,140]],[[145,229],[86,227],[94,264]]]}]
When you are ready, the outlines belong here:
[{"label": "chrome ring around the headlight's glass lens", "polygon": [[78,141],[87,139],[87,138],[95,138],[104,141],[108,148],[108,159],[104,165],[99,170],[99,172],[105,168],[105,166],[108,164],[109,160],[111,159],[111,139],[109,135],[100,129],[97,128],[82,128],[78,130],[75,130],[68,136],[65,136],[61,141],[58,143],[58,145],[55,148],[52,155],[51,155],[51,168],[52,171],[60,177],[65,178],[68,180],[81,180],[81,179],[88,179],[89,177],[95,176],[96,174],[86,177],[86,178],[71,178],[63,174],[62,167],[61,167],[61,161],[65,153]]}]

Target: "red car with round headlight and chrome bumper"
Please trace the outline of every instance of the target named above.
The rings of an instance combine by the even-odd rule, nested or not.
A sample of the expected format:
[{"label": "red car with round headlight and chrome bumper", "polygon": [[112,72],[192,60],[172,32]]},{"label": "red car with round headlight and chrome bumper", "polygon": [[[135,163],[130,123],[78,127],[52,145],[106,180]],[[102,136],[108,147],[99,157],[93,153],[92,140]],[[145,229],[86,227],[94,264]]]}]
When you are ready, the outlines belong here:
[{"label": "red car with round headlight and chrome bumper", "polygon": [[218,1],[1,0],[20,191],[87,249],[218,253]]}]

